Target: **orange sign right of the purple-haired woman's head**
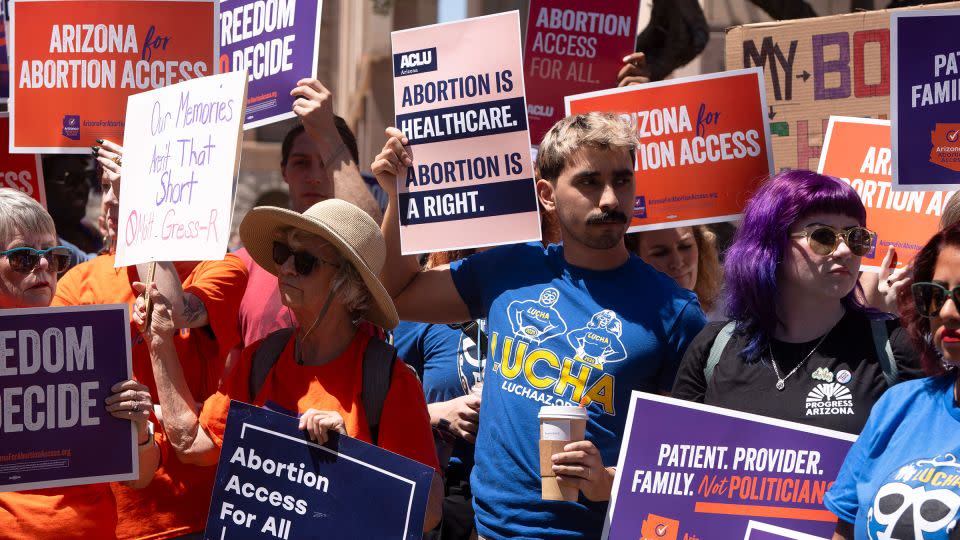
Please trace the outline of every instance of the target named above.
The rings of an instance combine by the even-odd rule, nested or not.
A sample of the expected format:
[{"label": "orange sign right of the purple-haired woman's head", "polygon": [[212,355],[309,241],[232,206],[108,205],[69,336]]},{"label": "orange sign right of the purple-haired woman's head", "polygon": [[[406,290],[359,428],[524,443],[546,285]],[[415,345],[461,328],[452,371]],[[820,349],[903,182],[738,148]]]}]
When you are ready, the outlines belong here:
[{"label": "orange sign right of the purple-haired woman's head", "polygon": [[850,184],[867,208],[867,227],[877,232],[877,244],[863,258],[861,270],[877,272],[887,248],[897,249],[901,267],[937,232],[943,207],[953,195],[946,191],[893,191],[890,121],[830,117],[820,154],[821,174]]}]

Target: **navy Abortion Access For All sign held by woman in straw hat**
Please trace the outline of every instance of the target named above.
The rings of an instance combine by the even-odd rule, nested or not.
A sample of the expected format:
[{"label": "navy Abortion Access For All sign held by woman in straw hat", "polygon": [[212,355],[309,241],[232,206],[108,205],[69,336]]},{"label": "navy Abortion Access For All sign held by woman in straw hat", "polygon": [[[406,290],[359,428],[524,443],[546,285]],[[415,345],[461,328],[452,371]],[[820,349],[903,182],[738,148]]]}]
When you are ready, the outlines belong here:
[{"label": "navy Abortion Access For All sign held by woman in straw hat", "polygon": [[230,402],[206,538],[422,536],[433,469],[347,436],[318,445],[285,414]]}]

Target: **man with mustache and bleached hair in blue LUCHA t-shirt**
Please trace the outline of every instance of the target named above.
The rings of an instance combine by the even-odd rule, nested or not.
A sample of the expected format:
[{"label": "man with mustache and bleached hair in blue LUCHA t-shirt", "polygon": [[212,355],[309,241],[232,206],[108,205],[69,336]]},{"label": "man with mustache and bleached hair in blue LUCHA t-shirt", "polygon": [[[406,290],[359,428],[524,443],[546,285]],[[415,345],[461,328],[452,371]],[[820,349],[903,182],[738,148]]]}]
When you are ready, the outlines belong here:
[{"label": "man with mustache and bleached hair in blue LUCHA t-shirt", "polygon": [[[487,317],[483,420],[470,481],[481,538],[599,537],[630,392],[668,391],[705,322],[693,293],[624,246],[635,134],[612,114],[561,120],[540,144],[536,185],[540,203],[558,218],[563,243],[502,246],[429,270],[400,253],[396,179],[413,162],[403,133],[388,128],[387,137],[372,168],[390,193],[381,279],[400,317],[431,323]],[[549,309],[538,306],[545,291],[554,302]],[[598,314],[605,324],[591,326]],[[518,318],[565,326],[541,336],[523,331],[529,325],[516,324]],[[568,339],[571,332],[579,334]],[[578,344],[588,342],[601,350],[622,347],[626,357],[601,368],[577,354]],[[577,403],[589,403],[588,440],[566,445],[551,460],[553,473],[582,496],[541,500],[537,414],[543,405]]]}]

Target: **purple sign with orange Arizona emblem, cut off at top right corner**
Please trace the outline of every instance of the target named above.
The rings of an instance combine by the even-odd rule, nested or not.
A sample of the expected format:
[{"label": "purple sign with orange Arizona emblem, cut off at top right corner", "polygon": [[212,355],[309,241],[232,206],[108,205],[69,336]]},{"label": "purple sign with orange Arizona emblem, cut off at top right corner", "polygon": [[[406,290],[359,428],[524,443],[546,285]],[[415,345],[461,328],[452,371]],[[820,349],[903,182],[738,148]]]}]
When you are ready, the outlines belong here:
[{"label": "purple sign with orange Arizona emblem, cut off at top right corner", "polygon": [[890,14],[890,128],[897,191],[960,188],[960,9]]}]

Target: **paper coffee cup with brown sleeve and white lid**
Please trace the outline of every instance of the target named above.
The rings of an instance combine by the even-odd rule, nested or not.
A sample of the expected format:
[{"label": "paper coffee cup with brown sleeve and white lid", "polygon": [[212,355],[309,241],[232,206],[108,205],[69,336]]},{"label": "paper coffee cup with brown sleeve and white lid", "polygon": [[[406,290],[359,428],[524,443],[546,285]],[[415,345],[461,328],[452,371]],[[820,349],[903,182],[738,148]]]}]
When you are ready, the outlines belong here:
[{"label": "paper coffee cup with brown sleeve and white lid", "polygon": [[587,430],[583,407],[549,405],[540,407],[540,496],[545,501],[576,501],[580,490],[553,474],[554,454],[571,442],[582,441]]}]

